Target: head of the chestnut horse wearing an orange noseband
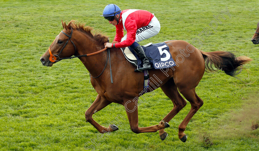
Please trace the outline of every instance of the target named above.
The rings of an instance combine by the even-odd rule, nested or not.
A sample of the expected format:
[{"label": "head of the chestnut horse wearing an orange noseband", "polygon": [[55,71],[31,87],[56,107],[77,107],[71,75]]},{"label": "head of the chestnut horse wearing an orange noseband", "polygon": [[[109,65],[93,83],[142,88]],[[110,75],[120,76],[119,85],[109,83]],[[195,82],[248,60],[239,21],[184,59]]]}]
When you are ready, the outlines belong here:
[{"label": "head of the chestnut horse wearing an orange noseband", "polygon": [[56,36],[49,49],[40,57],[40,61],[44,66],[51,67],[54,63],[58,62],[60,58],[71,57],[76,53],[76,46],[72,42],[72,25],[70,22],[66,25],[62,22],[64,30]]}]

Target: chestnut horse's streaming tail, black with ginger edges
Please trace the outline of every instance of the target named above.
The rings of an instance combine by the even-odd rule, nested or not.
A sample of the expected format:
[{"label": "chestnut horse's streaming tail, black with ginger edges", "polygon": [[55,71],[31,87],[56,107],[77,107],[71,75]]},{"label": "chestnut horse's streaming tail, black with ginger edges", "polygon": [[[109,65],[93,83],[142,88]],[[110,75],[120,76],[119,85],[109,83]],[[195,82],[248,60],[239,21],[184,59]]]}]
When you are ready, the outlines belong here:
[{"label": "chestnut horse's streaming tail, black with ginger edges", "polygon": [[[236,55],[228,51],[204,52],[200,50],[200,52],[204,58],[205,68],[207,71],[214,72],[217,70],[222,70],[229,76],[238,75],[239,72],[236,71],[242,69],[244,64],[252,61],[249,57],[236,57]],[[216,69],[213,68],[213,65]]]}]

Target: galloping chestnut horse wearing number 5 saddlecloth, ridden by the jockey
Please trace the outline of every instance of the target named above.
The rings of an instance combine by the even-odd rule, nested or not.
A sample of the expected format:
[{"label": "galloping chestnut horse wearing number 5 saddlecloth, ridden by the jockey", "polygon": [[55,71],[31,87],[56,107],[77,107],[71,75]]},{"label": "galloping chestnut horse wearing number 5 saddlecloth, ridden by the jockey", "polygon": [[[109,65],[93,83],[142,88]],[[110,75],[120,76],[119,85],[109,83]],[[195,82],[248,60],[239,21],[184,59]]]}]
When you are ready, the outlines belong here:
[{"label": "galloping chestnut horse wearing number 5 saddlecloth, ridden by the jockey", "polygon": [[[92,105],[85,112],[85,119],[91,123],[100,133],[117,130],[116,125],[108,128],[93,120],[92,115],[105,108],[110,103],[118,103],[125,107],[130,129],[134,133],[157,132],[162,140],[167,137],[165,128],[168,122],[186,105],[186,101],[180,93],[190,102],[191,110],[179,125],[179,139],[183,142],[187,136],[183,133],[192,116],[203,105],[203,100],[195,92],[195,87],[203,77],[205,68],[208,71],[218,69],[230,76],[234,76],[236,70],[245,63],[251,61],[245,56],[236,57],[231,52],[200,51],[191,44],[182,40],[169,40],[165,43],[170,48],[170,53],[177,66],[150,70],[149,75],[153,83],[153,89],[160,87],[172,100],[174,107],[159,122],[158,125],[138,127],[138,97],[142,94],[144,76],[142,72],[134,72],[134,67],[128,62],[119,48],[110,49],[110,64],[112,65],[113,84],[110,81],[108,53],[104,49],[107,37],[102,34],[92,34],[92,28],[84,24],[70,21],[68,25],[61,21],[64,30],[55,38],[49,49],[41,56],[40,61],[44,66],[52,66],[54,63],[74,57],[78,57],[91,74],[91,83],[98,93]],[[101,50],[101,51],[100,51]],[[63,57],[63,58],[62,58]],[[213,68],[214,65],[217,69]],[[107,68],[105,68],[107,66]],[[152,91],[153,89],[151,89]],[[178,91],[179,90],[179,91]],[[180,92],[180,93],[179,93]]]}]

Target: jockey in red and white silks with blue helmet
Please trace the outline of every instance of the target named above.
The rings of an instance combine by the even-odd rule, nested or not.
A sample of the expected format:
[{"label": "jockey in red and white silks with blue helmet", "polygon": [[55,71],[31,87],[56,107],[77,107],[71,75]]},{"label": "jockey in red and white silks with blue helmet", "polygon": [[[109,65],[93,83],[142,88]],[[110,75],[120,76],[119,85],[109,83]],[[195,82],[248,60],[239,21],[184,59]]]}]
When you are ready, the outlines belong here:
[{"label": "jockey in red and white silks with blue helmet", "polygon": [[[105,6],[103,16],[116,27],[116,35],[112,43],[105,43],[108,48],[131,47],[140,57],[143,67],[138,70],[151,69],[149,60],[138,42],[157,35],[160,31],[158,19],[146,10],[122,10],[115,4]],[[123,30],[127,34],[123,37]],[[135,70],[137,71],[137,70]]]}]

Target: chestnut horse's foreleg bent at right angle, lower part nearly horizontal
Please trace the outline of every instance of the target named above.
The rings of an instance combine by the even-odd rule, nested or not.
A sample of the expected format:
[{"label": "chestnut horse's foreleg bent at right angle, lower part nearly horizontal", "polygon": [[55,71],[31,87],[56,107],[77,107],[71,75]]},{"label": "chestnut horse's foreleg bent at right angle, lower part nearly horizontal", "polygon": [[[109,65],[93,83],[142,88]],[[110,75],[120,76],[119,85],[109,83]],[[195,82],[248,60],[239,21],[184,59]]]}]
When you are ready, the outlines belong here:
[{"label": "chestnut horse's foreleg bent at right angle, lower part nearly horizontal", "polygon": [[134,133],[148,133],[148,132],[157,132],[159,129],[164,129],[169,127],[169,124],[166,122],[160,122],[159,125],[149,126],[149,127],[138,127],[138,106],[135,102],[126,101],[125,110],[130,122],[130,129]]}]

